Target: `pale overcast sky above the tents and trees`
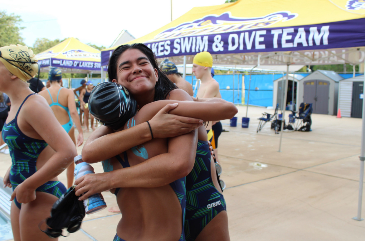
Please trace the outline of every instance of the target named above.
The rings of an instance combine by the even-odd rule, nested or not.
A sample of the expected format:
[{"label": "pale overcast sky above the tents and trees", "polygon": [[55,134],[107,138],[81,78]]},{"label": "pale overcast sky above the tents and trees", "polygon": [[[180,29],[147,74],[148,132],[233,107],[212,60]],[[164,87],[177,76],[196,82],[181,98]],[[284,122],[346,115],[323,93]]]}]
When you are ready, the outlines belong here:
[{"label": "pale overcast sky above the tents and trees", "polygon": [[[193,7],[223,3],[224,0],[172,0],[173,19]],[[77,37],[83,43],[109,47],[123,29],[138,38],[170,22],[170,0],[0,0],[0,6],[7,13],[22,17],[21,26],[26,27],[22,37],[28,46],[37,37]]]}]

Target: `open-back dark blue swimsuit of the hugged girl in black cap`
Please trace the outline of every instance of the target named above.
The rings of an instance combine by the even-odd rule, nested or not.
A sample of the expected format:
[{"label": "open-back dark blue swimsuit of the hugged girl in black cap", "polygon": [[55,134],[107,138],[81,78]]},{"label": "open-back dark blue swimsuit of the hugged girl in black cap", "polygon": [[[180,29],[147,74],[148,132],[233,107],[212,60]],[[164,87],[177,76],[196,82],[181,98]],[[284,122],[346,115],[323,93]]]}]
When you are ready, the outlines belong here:
[{"label": "open-back dark blue swimsuit of the hugged girl in black cap", "polygon": [[[127,152],[124,151],[124,161],[122,158],[120,158],[119,155],[116,155],[115,158],[120,162],[120,164],[123,166],[123,168],[130,167],[127,157]],[[107,167],[106,161],[103,161],[103,168],[104,171],[110,171],[110,169]],[[181,233],[180,239],[178,241],[185,241],[185,233],[184,233],[184,219],[185,219],[185,207],[186,207],[186,191],[185,191],[185,177],[177,179],[176,181],[170,183],[170,186],[172,187],[172,190],[174,190],[177,198],[179,199],[181,210],[183,212],[183,232]],[[120,187],[115,189],[115,196],[118,194]],[[125,241],[122,238],[118,237],[118,234],[115,234],[113,241]]]}]

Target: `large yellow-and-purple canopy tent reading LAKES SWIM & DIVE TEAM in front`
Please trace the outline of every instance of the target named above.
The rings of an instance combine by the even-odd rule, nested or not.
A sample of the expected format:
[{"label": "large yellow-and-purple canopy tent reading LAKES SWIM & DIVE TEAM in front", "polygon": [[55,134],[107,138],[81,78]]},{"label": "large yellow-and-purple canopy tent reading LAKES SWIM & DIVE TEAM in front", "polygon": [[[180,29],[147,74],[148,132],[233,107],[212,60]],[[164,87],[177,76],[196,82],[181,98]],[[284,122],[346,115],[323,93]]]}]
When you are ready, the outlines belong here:
[{"label": "large yellow-and-purple canopy tent reading LAKES SWIM & DIVE TEAM in front", "polygon": [[[365,0],[242,0],[195,7],[128,43],[186,63],[200,51],[219,65],[358,64],[364,60]],[[108,64],[111,47],[101,51]]]}]

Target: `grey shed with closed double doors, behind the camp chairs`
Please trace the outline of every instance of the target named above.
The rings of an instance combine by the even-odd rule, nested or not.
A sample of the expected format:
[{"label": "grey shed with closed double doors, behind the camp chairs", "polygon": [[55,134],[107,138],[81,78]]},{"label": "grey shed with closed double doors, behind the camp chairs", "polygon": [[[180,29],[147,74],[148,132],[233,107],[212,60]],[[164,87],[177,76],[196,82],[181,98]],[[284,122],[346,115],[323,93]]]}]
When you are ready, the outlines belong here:
[{"label": "grey shed with closed double doors, behind the camp chairs", "polygon": [[316,70],[299,80],[298,103],[312,103],[313,113],[337,115],[338,82],[335,71]]}]

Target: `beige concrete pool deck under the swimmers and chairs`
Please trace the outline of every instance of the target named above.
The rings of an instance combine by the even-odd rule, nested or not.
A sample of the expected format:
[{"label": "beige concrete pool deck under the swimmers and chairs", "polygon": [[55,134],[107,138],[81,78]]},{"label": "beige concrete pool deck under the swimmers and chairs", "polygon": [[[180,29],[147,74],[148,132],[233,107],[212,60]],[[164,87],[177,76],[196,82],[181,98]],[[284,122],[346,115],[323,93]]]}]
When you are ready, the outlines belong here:
[{"label": "beige concrete pool deck under the swimmers and chairs", "polygon": [[[312,114],[312,131],[284,132],[279,153],[280,135],[269,123],[256,133],[257,118],[274,110],[249,107],[246,129],[240,126],[246,107],[238,108],[238,127],[222,122],[229,132],[218,149],[231,240],[363,240],[365,220],[351,219],[357,214],[361,119]],[[3,176],[9,155],[0,154],[0,163]],[[100,163],[93,166],[102,171]],[[66,183],[65,173],[59,179]],[[103,196],[108,207],[116,206],[113,194]],[[111,241],[120,217],[107,209],[87,215],[82,230],[59,240]]]}]

